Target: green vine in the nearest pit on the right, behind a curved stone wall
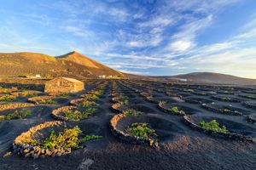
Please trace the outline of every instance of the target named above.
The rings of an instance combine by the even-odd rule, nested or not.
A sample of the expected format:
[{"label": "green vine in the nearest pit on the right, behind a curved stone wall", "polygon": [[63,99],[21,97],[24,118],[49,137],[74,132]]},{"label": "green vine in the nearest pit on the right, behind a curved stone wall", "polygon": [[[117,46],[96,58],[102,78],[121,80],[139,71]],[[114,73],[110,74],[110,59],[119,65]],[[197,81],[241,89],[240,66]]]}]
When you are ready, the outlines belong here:
[{"label": "green vine in the nearest pit on the right, behind a curved stone wall", "polygon": [[220,127],[215,119],[211,122],[202,121],[200,122],[200,126],[218,133],[229,133],[229,130],[225,126]]}]

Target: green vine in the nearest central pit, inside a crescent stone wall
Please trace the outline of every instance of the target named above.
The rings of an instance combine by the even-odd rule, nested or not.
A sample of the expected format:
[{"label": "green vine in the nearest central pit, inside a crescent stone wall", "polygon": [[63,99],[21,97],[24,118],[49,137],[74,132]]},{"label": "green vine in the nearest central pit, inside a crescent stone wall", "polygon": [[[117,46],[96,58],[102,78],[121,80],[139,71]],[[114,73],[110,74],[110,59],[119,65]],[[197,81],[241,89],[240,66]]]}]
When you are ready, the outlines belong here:
[{"label": "green vine in the nearest central pit, inside a crescent stone wall", "polygon": [[128,127],[126,129],[126,133],[129,133],[132,136],[140,137],[143,139],[157,137],[155,130],[150,128],[148,123],[146,123],[146,122],[132,123],[131,127]]}]

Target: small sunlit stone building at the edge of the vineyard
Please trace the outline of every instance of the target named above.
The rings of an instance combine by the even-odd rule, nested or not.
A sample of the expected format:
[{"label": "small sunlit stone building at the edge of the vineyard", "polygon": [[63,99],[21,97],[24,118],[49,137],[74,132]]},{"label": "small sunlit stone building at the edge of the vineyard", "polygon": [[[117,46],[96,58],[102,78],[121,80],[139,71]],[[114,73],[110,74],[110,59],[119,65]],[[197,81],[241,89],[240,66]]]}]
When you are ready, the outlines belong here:
[{"label": "small sunlit stone building at the edge of the vineyard", "polygon": [[49,94],[76,93],[84,89],[84,82],[67,77],[57,77],[45,83],[44,92]]}]

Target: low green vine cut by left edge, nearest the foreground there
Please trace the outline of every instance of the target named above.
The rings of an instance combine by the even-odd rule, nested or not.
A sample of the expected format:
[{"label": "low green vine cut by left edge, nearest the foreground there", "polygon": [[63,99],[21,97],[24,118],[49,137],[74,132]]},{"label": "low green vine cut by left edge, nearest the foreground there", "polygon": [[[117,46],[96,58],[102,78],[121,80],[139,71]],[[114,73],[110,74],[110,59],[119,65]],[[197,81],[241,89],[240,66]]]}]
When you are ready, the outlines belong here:
[{"label": "low green vine cut by left edge, nearest the foreground there", "polygon": [[27,116],[32,116],[32,111],[27,109],[22,109],[20,111],[14,111],[6,116],[0,116],[0,121],[12,120],[12,119],[25,119]]}]

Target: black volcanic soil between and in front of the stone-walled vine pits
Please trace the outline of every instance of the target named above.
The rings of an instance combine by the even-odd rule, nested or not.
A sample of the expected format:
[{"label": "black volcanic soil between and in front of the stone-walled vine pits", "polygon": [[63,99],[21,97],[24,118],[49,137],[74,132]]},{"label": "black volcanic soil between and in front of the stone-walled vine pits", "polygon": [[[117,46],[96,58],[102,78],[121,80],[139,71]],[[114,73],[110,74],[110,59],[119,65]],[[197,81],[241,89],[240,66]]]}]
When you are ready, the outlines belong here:
[{"label": "black volcanic soil between and in front of the stone-walled vine pits", "polygon": [[[37,107],[40,109],[33,114],[35,116],[24,120],[0,121],[0,169],[255,169],[255,143],[218,139],[195,131],[183,123],[182,116],[173,116],[161,111],[157,104],[147,101],[143,96],[127,87],[140,87],[145,93],[148,93],[148,88],[151,88],[154,91],[151,93],[156,94],[154,100],[167,100],[170,105],[173,102],[173,105],[183,105],[183,107],[196,110],[193,116],[205,117],[206,119],[216,117],[218,120],[235,122],[235,125],[239,125],[236,126],[239,132],[243,130],[243,127],[250,129],[250,135],[255,140],[256,131],[252,132],[252,129],[256,129],[256,126],[253,123],[246,122],[246,116],[227,116],[214,113],[204,109],[200,104],[188,103],[183,99],[166,95],[166,91],[171,90],[173,87],[176,89],[173,88],[172,90],[177,93],[179,93],[177,88],[183,89],[184,87],[176,85],[173,85],[173,87],[162,86],[159,82],[141,82],[142,84],[138,85],[138,82],[140,81],[119,81],[118,90],[130,96],[132,108],[137,108],[145,112],[146,117],[150,117],[149,122],[153,123],[156,130],[161,132],[168,131],[170,135],[166,135],[166,138],[160,140],[159,149],[146,145],[128,144],[113,136],[109,127],[109,121],[114,116],[111,110],[111,105],[113,105],[111,96],[112,82],[109,81],[107,92],[103,94],[99,101],[101,113],[80,122],[68,122],[71,126],[79,125],[85,133],[102,135],[103,139],[84,143],[86,146],[84,149],[73,150],[67,156],[38,160],[15,155],[3,158],[7,151],[11,151],[11,144],[20,133],[26,132],[30,127],[39,123],[53,121],[54,119],[50,116],[51,111],[55,108],[69,105],[69,103],[65,101],[58,105],[39,105]],[[88,85],[84,92],[76,94],[70,99],[79,98],[79,95],[85,94],[95,86],[94,82]],[[206,91],[208,89],[217,91],[216,87],[198,88],[197,91]],[[199,97],[189,92],[184,94]],[[239,98],[238,94],[229,96]],[[212,99],[210,94],[203,96],[203,98],[211,99],[219,105],[232,105],[236,108],[245,109],[251,111],[252,115],[256,115],[255,111],[246,108],[242,103],[218,101]]]}]

